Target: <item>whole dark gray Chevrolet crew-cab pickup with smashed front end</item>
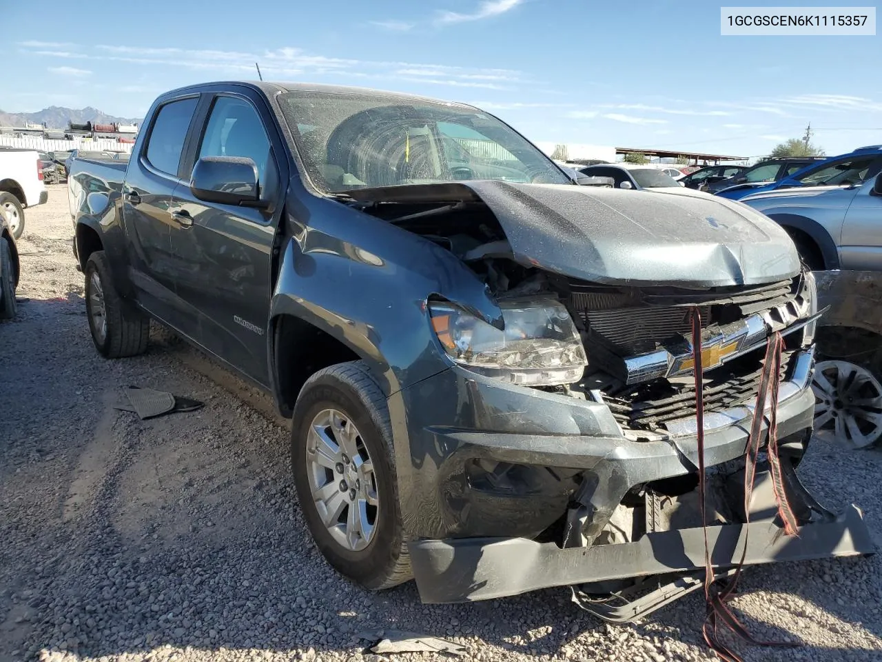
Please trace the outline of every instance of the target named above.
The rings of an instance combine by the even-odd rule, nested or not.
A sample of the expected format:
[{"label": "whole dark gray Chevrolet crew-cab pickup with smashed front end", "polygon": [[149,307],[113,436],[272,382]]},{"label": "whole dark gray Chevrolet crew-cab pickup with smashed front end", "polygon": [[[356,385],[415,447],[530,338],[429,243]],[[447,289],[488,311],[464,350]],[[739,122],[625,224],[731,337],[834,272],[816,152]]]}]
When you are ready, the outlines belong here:
[{"label": "whole dark gray Chevrolet crew-cab pickup with smashed front end", "polygon": [[[404,94],[213,83],[163,94],[144,127],[128,164],[71,167],[95,347],[144,352],[158,320],[272,393],[342,574],[415,577],[427,602],[659,586],[624,612],[591,603],[612,620],[695,588],[692,310],[714,567],[748,531],[749,564],[871,551],[860,511],[818,514],[793,471],[815,285],[762,214],[579,186],[496,117]],[[799,537],[780,535],[762,457],[744,505],[773,332]]]}]

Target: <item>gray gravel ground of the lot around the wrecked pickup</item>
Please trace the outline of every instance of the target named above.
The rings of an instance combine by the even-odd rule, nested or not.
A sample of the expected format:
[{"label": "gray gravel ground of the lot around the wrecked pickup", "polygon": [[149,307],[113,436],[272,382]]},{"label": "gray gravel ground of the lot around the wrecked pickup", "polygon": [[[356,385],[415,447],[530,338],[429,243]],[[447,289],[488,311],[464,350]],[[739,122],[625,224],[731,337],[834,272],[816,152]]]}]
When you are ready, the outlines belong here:
[{"label": "gray gravel ground of the lot around the wrecked pickup", "polygon": [[[488,662],[713,658],[698,596],[611,627],[564,590],[423,606],[413,583],[371,594],[341,579],[310,542],[272,403],[168,334],[143,357],[101,359],[64,186],[26,216],[30,300],[0,326],[0,660],[378,659],[360,636],[384,628],[452,638]],[[206,407],[139,421],[112,408],[130,384]],[[882,530],[882,452],[818,442],[802,472],[822,501],[854,501]],[[754,634],[804,645],[744,645],[745,658],[882,658],[880,565],[747,572],[734,605]]]}]

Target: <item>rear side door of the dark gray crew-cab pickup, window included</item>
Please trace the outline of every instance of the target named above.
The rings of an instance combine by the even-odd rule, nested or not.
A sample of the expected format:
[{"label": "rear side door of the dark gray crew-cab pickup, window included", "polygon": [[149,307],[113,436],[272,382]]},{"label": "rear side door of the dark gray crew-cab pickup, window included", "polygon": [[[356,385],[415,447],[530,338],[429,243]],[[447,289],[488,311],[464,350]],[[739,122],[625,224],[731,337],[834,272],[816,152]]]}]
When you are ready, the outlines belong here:
[{"label": "rear side door of the dark gray crew-cab pickup, window included", "polygon": [[138,301],[172,323],[175,283],[171,255],[172,196],[198,96],[167,102],[153,114],[145,146],[132,156],[123,186],[123,222],[131,237],[131,282]]}]

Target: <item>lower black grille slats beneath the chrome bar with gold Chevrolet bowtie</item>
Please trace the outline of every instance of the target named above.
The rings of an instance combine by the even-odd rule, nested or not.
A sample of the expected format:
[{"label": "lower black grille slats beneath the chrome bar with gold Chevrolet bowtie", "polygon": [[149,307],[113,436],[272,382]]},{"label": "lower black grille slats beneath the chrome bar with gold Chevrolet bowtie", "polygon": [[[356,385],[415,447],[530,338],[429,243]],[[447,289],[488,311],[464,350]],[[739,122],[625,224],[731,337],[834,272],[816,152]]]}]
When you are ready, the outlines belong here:
[{"label": "lower black grille slats beneath the chrome bar with gold Chevrolet bowtie", "polygon": [[[759,390],[765,346],[705,373],[705,410],[723,410],[753,402]],[[781,356],[781,380],[785,379],[793,351]],[[692,376],[660,379],[624,387],[604,395],[619,424],[632,430],[655,430],[677,418],[695,415]]]}]

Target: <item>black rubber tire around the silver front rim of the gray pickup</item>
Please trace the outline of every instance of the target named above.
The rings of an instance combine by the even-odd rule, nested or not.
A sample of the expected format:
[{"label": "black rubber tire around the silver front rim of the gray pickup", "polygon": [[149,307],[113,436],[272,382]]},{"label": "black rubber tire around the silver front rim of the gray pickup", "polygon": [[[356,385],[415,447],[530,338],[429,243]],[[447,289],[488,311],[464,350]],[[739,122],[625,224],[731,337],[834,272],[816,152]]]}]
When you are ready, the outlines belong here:
[{"label": "black rubber tire around the silver front rim of the gray pickup", "polygon": [[[351,445],[357,445],[361,441],[359,456],[364,461],[363,455],[366,454],[372,463],[370,482],[375,487],[374,495],[378,502],[373,511],[374,522],[370,539],[365,536],[358,539],[358,544],[366,545],[361,549],[356,548],[357,545],[350,545],[350,542],[340,541],[340,538],[349,540],[349,533],[341,533],[340,530],[340,527],[346,526],[349,531],[352,526],[348,515],[354,506],[348,504],[360,503],[362,499],[361,496],[356,496],[356,500],[352,500],[351,494],[355,490],[351,488],[352,474],[348,473],[350,466],[340,471],[342,462],[338,462],[332,470],[330,467],[319,466],[310,459],[319,455],[310,453],[310,445],[314,443],[311,440],[319,438],[314,432],[310,436],[310,427],[322,420],[321,417],[325,416],[323,412],[330,410],[340,413],[346,425],[355,424],[358,436],[350,436]],[[325,428],[325,434],[333,436],[333,433],[327,432],[333,430],[331,425],[333,424]],[[338,436],[340,439],[344,438],[339,433]],[[340,448],[345,452],[344,443],[340,442]],[[344,455],[342,459],[345,461],[347,457]],[[349,462],[354,468],[355,456]],[[294,408],[291,464],[303,516],[319,551],[333,568],[370,591],[388,589],[412,578],[407,540],[401,523],[389,410],[382,390],[370,376],[363,361],[332,365],[316,372],[306,381]],[[343,491],[341,485],[347,479],[350,479],[349,492]],[[331,504],[330,508],[333,509],[336,503],[332,502],[333,499],[339,498],[347,502],[346,509],[340,512],[337,520],[331,517],[334,522],[343,522],[333,526],[323,520],[313,492],[318,489],[317,482],[325,480],[325,487],[330,489],[331,496],[326,502],[322,501],[323,505]],[[368,483],[365,479],[365,489],[370,491]],[[335,491],[338,485],[340,493]],[[365,500],[369,503],[366,496]],[[370,520],[370,505],[364,508]],[[360,526],[358,530],[363,531],[364,527]]]}]

